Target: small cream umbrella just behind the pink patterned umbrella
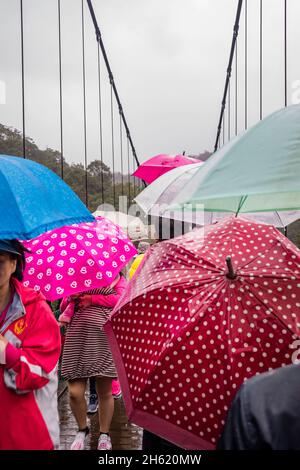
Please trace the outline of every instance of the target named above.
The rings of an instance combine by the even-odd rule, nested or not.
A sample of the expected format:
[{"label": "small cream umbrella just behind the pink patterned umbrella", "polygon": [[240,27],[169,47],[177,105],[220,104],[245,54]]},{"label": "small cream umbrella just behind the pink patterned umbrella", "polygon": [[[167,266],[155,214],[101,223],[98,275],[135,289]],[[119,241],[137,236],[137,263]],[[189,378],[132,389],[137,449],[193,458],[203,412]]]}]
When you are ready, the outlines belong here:
[{"label": "small cream umbrella just behind the pink patterned umbrella", "polygon": [[105,217],[109,219],[111,222],[121,227],[131,240],[147,238],[147,228],[139,217],[125,214],[125,212],[101,210],[97,210],[93,215],[95,217]]}]

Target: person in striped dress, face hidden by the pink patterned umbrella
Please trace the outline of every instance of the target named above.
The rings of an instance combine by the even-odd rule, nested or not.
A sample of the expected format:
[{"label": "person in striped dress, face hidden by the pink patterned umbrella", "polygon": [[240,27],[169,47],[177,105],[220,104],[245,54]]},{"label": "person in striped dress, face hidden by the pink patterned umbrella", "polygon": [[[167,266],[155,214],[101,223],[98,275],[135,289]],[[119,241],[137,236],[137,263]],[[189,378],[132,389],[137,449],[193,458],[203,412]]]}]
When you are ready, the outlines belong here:
[{"label": "person in striped dress, face hidden by the pink patterned umbrella", "polygon": [[[117,372],[103,325],[126,285],[126,279],[118,276],[108,287],[89,290],[72,298],[72,301],[75,300],[74,315],[67,327],[62,355],[62,376],[68,382],[70,405],[79,428],[71,445],[72,450],[83,450],[89,433],[85,390],[90,377],[96,378],[100,400],[98,450],[112,448],[109,437],[114,413],[111,385]],[[67,304],[68,300],[64,299],[61,311]]]}]

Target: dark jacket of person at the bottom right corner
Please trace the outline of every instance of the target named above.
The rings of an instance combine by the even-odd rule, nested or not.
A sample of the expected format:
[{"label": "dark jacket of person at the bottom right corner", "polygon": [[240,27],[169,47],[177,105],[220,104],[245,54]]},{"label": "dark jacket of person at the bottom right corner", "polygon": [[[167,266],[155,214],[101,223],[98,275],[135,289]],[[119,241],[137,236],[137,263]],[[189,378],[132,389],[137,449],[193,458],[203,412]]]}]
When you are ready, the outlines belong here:
[{"label": "dark jacket of person at the bottom right corner", "polygon": [[247,381],[229,410],[219,450],[300,450],[300,364]]}]

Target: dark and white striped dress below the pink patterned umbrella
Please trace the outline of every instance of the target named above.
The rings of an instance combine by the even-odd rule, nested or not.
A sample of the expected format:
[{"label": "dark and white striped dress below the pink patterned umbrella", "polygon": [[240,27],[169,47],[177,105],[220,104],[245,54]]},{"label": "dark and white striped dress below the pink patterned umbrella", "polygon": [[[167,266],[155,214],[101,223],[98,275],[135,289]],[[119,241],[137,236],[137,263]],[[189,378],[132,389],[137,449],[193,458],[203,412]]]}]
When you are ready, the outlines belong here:
[{"label": "dark and white striped dress below the pink patterned umbrella", "polygon": [[[115,294],[105,287],[92,289],[85,294]],[[61,375],[65,380],[88,377],[116,378],[117,372],[103,325],[112,308],[90,305],[81,312],[75,311],[66,332],[62,355]]]}]

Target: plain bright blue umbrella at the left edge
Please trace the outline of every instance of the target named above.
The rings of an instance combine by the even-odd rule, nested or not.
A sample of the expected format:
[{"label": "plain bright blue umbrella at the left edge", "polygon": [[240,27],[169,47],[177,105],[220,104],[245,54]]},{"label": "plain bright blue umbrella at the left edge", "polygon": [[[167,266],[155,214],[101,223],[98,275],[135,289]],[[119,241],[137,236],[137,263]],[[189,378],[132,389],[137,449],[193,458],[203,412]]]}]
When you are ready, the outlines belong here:
[{"label": "plain bright blue umbrella at the left edge", "polygon": [[0,239],[30,239],[94,220],[78,196],[39,163],[0,155]]}]

